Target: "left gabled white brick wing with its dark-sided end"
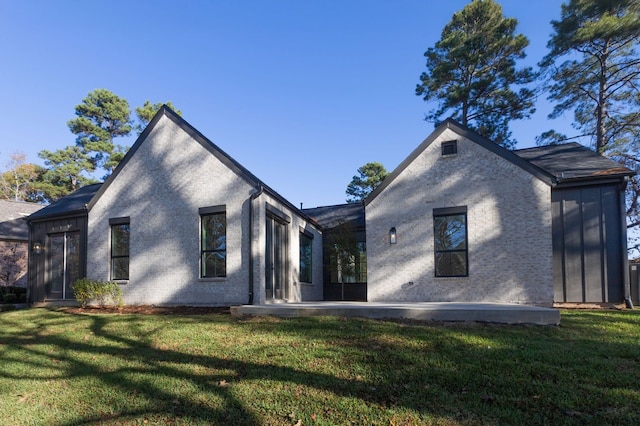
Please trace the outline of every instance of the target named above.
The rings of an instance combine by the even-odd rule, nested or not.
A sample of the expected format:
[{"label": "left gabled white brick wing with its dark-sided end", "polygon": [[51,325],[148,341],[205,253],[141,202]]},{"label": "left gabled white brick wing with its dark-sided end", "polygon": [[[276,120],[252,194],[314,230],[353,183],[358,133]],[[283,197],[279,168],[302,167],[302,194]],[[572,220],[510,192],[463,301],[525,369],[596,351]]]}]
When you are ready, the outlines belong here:
[{"label": "left gabled white brick wing with its dark-sided end", "polygon": [[82,276],[120,283],[133,305],[322,299],[320,228],[168,108],[85,198],[75,216],[63,199],[31,217],[32,239],[72,259],[58,276],[32,256],[45,271],[33,301],[73,298]]}]

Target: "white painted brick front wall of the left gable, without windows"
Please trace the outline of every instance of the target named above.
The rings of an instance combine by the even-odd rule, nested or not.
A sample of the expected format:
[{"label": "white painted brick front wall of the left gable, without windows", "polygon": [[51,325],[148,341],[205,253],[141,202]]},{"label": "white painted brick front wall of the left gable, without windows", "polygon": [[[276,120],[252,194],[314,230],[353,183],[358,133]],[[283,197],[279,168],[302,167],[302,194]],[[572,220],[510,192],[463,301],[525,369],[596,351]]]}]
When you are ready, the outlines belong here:
[{"label": "white painted brick front wall of the left gable, without windows", "polygon": [[[163,117],[89,214],[89,278],[110,279],[109,218],[130,217],[127,304],[242,304],[248,300],[249,208],[255,191]],[[200,207],[226,206],[227,277],[199,278]]]}]

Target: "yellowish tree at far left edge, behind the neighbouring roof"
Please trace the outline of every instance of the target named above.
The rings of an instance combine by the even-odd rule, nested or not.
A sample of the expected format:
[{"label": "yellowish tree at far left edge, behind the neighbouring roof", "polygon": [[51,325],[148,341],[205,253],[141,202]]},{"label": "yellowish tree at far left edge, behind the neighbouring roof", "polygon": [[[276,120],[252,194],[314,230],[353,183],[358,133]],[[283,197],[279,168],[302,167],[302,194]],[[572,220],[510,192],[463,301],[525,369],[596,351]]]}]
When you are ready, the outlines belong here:
[{"label": "yellowish tree at far left edge, behind the neighbouring roof", "polygon": [[15,201],[31,201],[34,182],[38,177],[38,166],[26,163],[24,152],[16,151],[10,156],[7,170],[0,175],[0,197]]}]

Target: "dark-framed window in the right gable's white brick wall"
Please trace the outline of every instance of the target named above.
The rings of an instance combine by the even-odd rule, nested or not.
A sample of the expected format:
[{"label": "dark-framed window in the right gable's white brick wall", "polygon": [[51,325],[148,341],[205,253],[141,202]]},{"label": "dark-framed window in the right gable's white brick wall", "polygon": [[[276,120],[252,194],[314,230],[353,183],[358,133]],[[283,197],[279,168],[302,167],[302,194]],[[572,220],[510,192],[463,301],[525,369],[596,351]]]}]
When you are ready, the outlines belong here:
[{"label": "dark-framed window in the right gable's white brick wall", "polygon": [[433,236],[436,277],[468,276],[467,208],[434,209]]}]

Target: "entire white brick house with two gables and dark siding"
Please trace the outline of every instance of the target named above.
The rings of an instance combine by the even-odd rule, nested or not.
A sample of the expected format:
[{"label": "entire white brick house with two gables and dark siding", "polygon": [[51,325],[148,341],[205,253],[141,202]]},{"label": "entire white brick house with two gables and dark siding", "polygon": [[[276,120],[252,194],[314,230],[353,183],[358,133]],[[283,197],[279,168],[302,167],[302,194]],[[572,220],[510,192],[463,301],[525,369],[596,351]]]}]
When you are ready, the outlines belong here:
[{"label": "entire white brick house with two gables and dark siding", "polygon": [[619,303],[632,174],[447,120],[364,204],[302,211],[163,107],[103,184],[29,217],[30,301],[88,277],[133,305]]}]

